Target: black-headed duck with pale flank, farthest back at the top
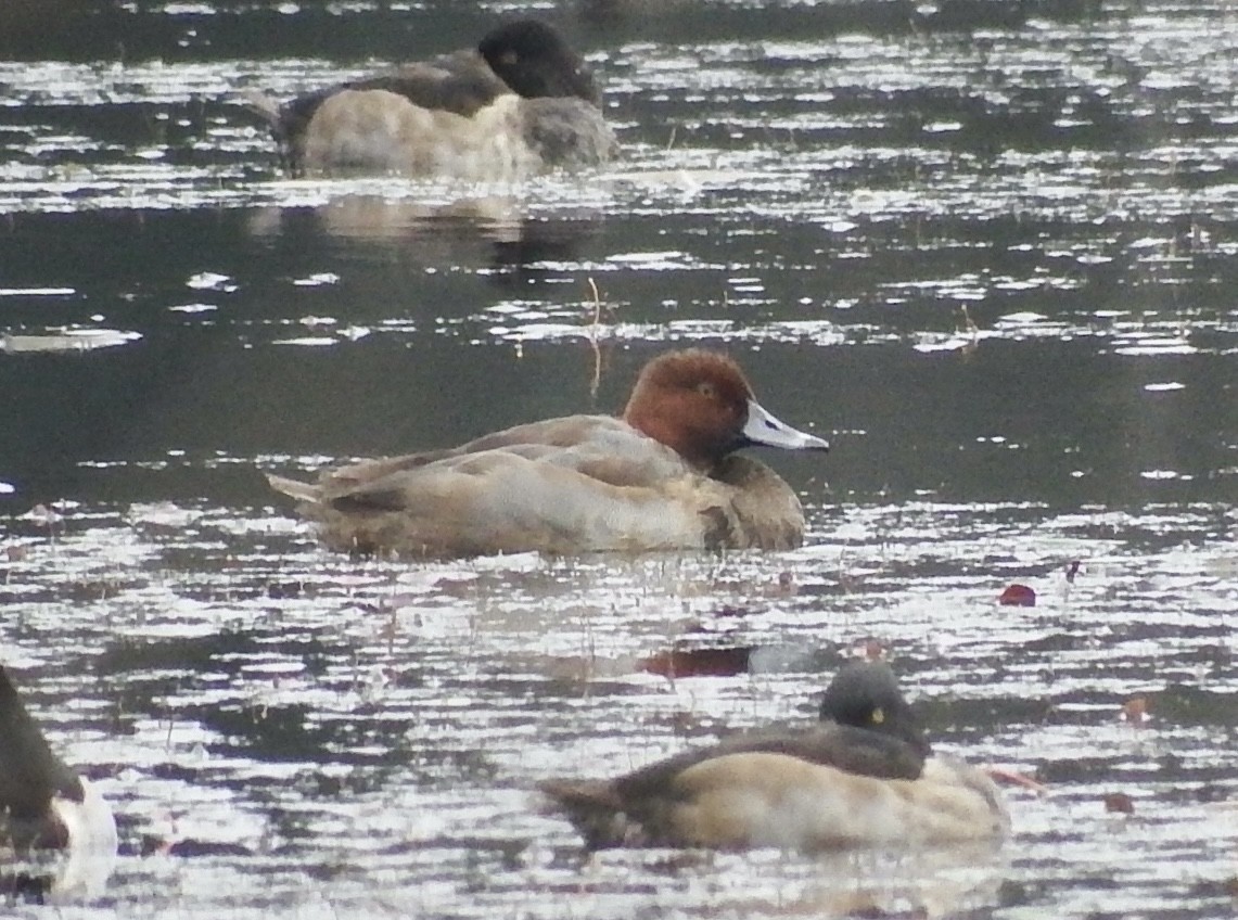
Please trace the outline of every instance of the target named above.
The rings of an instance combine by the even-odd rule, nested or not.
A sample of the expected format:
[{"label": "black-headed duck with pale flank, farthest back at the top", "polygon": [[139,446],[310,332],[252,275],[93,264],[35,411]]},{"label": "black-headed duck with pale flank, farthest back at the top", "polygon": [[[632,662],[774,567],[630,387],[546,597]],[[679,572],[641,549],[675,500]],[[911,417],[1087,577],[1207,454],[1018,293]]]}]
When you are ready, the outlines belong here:
[{"label": "black-headed duck with pale flank, farthest back at the top", "polygon": [[515,181],[614,152],[584,61],[551,26],[519,20],[475,50],[300,95],[250,94],[293,175],[399,173]]}]

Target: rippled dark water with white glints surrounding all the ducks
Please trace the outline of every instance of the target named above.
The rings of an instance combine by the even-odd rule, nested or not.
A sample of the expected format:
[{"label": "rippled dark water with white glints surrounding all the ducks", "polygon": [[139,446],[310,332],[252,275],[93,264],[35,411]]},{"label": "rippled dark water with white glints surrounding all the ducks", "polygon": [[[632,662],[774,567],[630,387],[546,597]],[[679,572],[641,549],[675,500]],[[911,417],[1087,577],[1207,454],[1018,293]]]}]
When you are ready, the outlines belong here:
[{"label": "rippled dark water with white glints surrounding all the ducks", "polygon": [[[0,7],[0,662],[123,842],[64,915],[1232,916],[1238,7],[541,4],[625,152],[517,188],[292,181],[243,106],[527,9]],[[833,442],[766,458],[803,549],[355,561],[261,477],[687,342]],[[1000,851],[582,863],[540,812],[874,643],[1046,786]]]}]

